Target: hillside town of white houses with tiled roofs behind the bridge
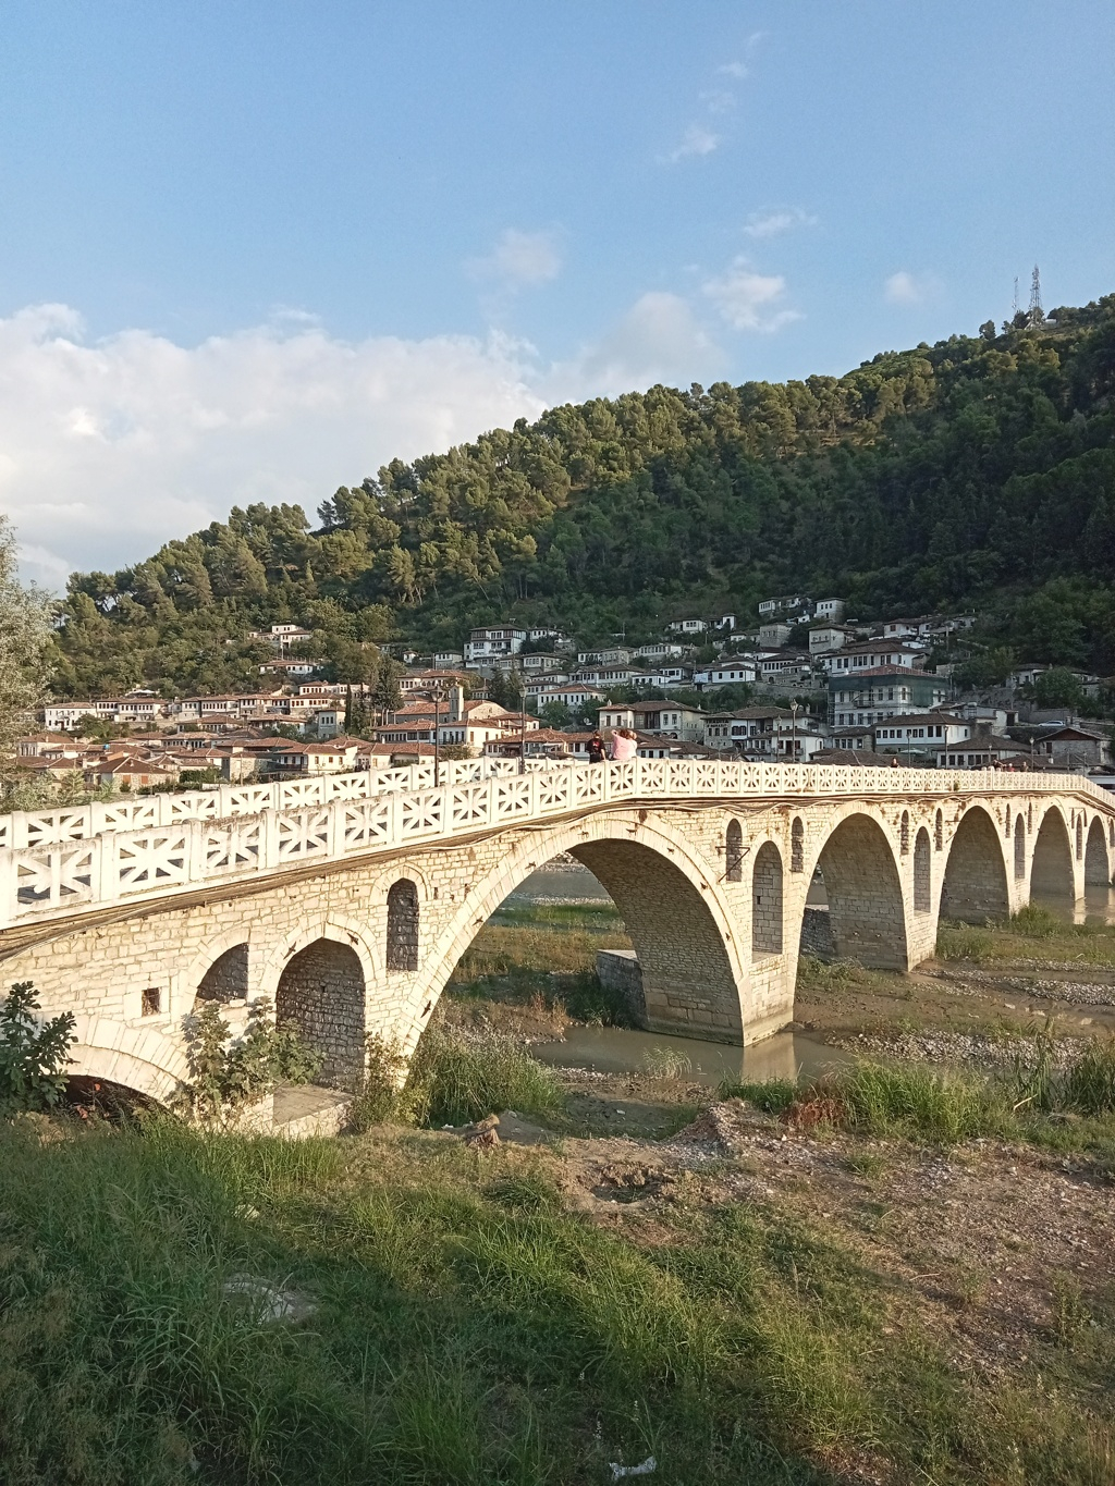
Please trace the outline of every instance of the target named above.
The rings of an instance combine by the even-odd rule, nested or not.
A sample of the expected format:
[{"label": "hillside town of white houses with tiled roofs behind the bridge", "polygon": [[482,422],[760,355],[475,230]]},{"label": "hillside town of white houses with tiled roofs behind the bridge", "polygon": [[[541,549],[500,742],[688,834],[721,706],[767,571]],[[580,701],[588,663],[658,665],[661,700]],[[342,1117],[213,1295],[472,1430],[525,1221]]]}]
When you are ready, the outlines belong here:
[{"label": "hillside town of white houses with tiled roofs behind the bridge", "polygon": [[[595,733],[607,747],[623,730],[644,758],[1057,770],[1106,785],[1108,730],[1078,704],[1042,704],[1051,667],[1018,664],[981,690],[957,679],[974,623],[858,623],[844,600],[804,593],[763,600],[749,626],[736,614],[684,617],[644,643],[578,648],[558,629],[508,621],[473,629],[459,649],[384,645],[387,704],[369,685],[323,679],[299,654],[311,632],[275,624],[251,636],[274,651],[259,690],[51,701],[16,753],[46,792],[126,794],[437,756],[587,761]],[[1085,703],[1105,687],[1070,676]]]}]

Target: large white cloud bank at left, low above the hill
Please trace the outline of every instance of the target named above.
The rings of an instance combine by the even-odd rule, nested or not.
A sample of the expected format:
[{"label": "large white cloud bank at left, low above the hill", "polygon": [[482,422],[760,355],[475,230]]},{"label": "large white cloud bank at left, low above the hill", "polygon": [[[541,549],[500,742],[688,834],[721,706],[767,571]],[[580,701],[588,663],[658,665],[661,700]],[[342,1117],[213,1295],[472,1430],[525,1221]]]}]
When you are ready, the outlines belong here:
[{"label": "large white cloud bank at left, low above the hill", "polygon": [[257,327],[183,348],[146,330],[86,343],[59,305],[0,319],[0,510],[30,577],[149,556],[232,505],[300,502],[535,418],[528,346],[504,336],[345,342]]}]

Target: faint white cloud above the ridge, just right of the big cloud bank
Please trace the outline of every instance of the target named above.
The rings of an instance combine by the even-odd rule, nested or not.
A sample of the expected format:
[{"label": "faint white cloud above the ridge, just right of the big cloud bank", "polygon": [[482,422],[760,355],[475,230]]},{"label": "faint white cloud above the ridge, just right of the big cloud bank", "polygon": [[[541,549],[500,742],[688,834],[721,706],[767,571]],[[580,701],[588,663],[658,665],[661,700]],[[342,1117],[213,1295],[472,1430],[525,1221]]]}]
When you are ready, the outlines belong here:
[{"label": "faint white cloud above the ridge, just right of the big cloud bank", "polygon": [[[574,364],[555,367],[549,385],[575,386],[578,395],[615,395],[656,382],[688,385],[708,376],[724,357],[679,294],[642,294],[596,346]],[[571,395],[568,391],[565,395]],[[556,400],[556,398],[555,398]]]}]

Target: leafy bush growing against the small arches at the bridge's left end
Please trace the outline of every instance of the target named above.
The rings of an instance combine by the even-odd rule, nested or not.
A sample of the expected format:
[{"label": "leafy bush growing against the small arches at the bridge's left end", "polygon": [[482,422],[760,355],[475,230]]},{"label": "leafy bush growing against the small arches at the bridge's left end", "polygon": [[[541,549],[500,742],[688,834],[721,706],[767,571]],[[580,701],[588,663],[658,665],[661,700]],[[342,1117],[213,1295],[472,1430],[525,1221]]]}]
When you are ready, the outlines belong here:
[{"label": "leafy bush growing against the small arches at the bridge's left end", "polygon": [[186,1060],[190,1082],[178,1104],[202,1123],[233,1116],[245,1104],[271,1094],[277,1083],[309,1083],[321,1067],[297,1030],[277,1027],[265,997],[248,1008],[242,1037],[232,1039],[214,1002],[186,1018]]}]

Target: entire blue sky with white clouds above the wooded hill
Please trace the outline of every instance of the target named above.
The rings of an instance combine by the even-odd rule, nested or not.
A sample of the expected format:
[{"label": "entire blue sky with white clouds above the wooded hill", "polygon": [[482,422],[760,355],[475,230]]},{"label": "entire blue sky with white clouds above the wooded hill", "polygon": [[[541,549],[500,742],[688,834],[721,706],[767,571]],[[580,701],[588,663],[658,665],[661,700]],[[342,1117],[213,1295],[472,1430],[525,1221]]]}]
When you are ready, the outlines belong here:
[{"label": "entire blue sky with white clouds above the wooded hill", "polygon": [[1115,290],[1115,7],[9,0],[0,510],[113,566],[550,401]]}]

